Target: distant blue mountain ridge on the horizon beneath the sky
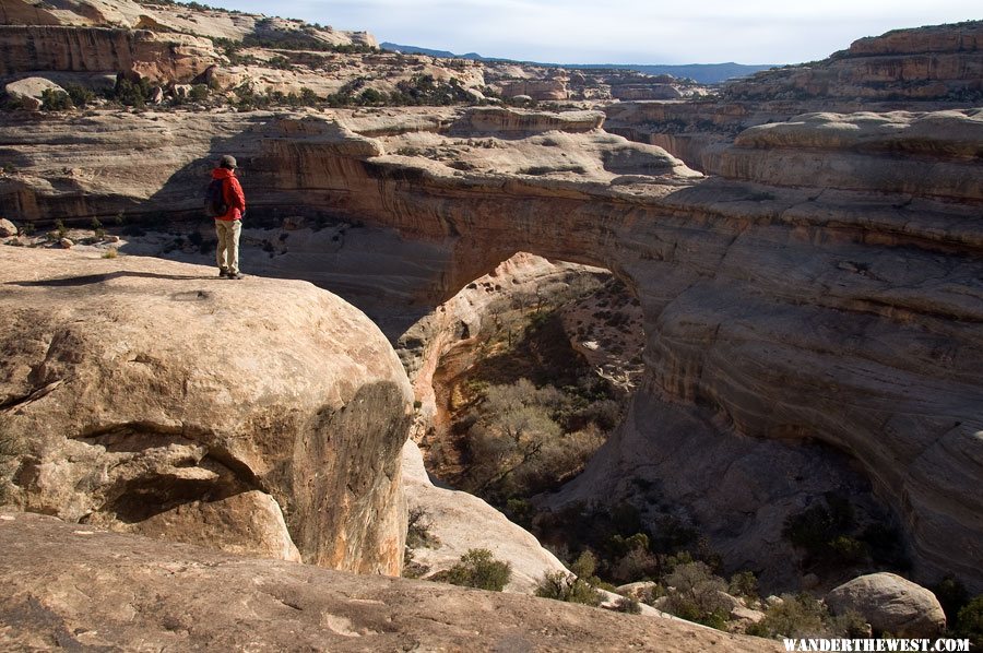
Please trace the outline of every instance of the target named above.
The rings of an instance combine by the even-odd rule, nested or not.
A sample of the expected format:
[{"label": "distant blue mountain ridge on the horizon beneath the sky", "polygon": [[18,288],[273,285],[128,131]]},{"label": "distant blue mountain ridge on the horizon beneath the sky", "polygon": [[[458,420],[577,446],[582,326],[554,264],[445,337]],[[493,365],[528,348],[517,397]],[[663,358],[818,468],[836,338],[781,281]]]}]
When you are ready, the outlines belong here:
[{"label": "distant blue mountain ridge on the horizon beneath the sky", "polygon": [[670,74],[674,78],[689,78],[701,84],[716,84],[726,80],[736,78],[746,78],[754,73],[777,68],[779,64],[756,64],[747,66],[744,63],[687,63],[682,66],[668,64],[644,64],[644,63],[544,63],[541,61],[517,61],[516,59],[501,59],[496,57],[482,57],[477,52],[467,52],[466,55],[455,55],[449,50],[431,50],[429,48],[421,48],[416,46],[403,46],[395,43],[383,43],[380,46],[384,50],[394,52],[403,52],[404,55],[427,55],[429,57],[440,57],[443,59],[472,59],[475,61],[490,61],[498,63],[526,63],[530,66],[543,66],[546,68],[567,68],[567,69],[605,69],[605,70],[633,70],[650,75]]}]

